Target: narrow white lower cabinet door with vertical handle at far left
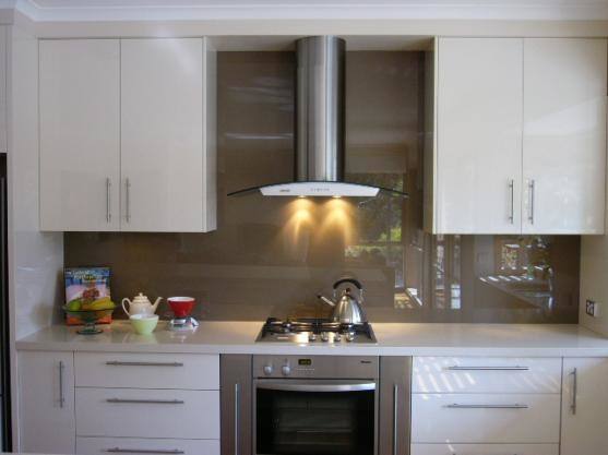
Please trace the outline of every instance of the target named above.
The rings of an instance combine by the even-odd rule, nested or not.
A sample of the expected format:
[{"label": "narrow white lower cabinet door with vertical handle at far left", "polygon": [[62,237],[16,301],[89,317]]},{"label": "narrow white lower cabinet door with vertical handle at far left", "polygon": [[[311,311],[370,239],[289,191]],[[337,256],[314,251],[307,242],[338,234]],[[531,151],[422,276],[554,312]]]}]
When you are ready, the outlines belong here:
[{"label": "narrow white lower cabinet door with vertical handle at far left", "polygon": [[17,452],[74,453],[73,364],[72,352],[19,352]]}]

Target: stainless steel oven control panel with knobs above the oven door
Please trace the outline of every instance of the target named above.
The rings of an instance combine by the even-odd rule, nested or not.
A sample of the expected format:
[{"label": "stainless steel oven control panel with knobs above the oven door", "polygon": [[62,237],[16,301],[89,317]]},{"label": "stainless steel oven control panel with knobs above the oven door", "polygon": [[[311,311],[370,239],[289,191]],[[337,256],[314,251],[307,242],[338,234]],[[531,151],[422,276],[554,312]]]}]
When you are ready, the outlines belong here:
[{"label": "stainless steel oven control panel with knobs above the oven door", "polygon": [[377,379],[374,356],[253,356],[254,378]]}]

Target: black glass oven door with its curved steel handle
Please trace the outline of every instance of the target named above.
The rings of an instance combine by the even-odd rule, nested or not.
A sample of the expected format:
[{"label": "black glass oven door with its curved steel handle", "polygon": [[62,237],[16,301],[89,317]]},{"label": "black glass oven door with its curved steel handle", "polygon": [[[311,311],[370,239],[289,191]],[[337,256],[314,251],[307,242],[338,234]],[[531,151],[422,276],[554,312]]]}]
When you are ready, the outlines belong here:
[{"label": "black glass oven door with its curved steel handle", "polygon": [[257,455],[375,455],[377,382],[258,380]]}]

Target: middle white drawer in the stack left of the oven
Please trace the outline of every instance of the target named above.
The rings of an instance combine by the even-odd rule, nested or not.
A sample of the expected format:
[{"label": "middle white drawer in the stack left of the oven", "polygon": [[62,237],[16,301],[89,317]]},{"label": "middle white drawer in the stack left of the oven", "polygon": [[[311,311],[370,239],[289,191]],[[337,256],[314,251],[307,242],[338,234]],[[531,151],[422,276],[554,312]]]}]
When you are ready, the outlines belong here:
[{"label": "middle white drawer in the stack left of the oven", "polygon": [[219,391],[76,388],[76,435],[219,439]]}]

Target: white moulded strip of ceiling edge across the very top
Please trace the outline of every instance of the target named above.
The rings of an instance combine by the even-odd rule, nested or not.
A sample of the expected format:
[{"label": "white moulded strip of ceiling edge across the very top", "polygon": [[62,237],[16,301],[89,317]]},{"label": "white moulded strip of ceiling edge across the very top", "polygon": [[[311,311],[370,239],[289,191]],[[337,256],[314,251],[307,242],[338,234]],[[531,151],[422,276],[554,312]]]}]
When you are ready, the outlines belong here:
[{"label": "white moulded strip of ceiling edge across the very top", "polygon": [[[0,3],[11,0],[0,0]],[[608,0],[13,0],[37,21],[607,20]]]}]

